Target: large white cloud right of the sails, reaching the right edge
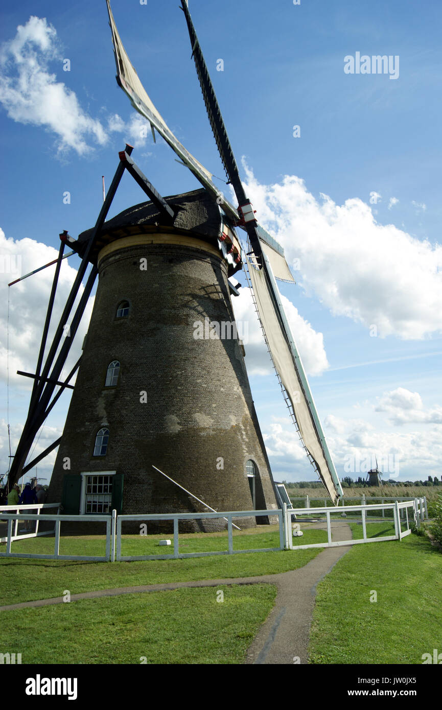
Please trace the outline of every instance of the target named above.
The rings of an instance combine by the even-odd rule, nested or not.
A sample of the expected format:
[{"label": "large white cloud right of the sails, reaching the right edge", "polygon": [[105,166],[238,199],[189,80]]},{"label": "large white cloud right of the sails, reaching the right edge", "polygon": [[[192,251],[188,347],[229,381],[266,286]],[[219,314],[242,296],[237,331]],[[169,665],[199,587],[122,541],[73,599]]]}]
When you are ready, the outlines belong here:
[{"label": "large white cloud right of the sails, reaching the right edge", "polygon": [[298,283],[333,315],[346,316],[379,337],[422,339],[442,331],[442,246],[392,224],[378,224],[358,198],[318,202],[303,180],[286,175],[262,185],[244,163],[247,194],[257,217],[281,242]]}]

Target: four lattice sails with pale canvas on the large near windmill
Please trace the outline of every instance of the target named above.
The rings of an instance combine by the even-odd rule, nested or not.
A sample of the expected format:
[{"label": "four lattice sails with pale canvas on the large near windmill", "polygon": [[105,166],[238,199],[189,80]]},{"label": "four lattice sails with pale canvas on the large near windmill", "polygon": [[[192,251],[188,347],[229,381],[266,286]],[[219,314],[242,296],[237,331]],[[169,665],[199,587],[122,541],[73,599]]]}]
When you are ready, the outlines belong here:
[{"label": "four lattice sails with pale canvas on the large near windmill", "polygon": [[[244,192],[244,187],[239,178],[235,155],[230,146],[220,107],[217,104],[215,91],[198,43],[195,28],[190,18],[187,1],[182,0],[181,4],[188,23],[190,41],[193,48],[193,58],[195,59],[198,78],[200,80],[201,89],[203,90],[207,114],[210,119],[210,125],[212,126],[222,163],[235,190],[239,205],[251,209]],[[107,9],[112,29],[112,40],[114,43],[114,54],[118,72],[117,81],[119,85],[131,100],[131,104],[136,111],[139,111],[139,113],[150,122],[151,126],[160,133],[173,151],[183,160],[183,163],[187,165],[193,175],[198,178],[203,187],[205,187],[213,197],[218,197],[220,191],[217,190],[217,187],[212,182],[212,174],[178,141],[176,136],[174,136],[172,131],[168,128],[166,121],[164,121],[151,102],[134,67],[129,61],[126,50],[124,50],[122,40],[119,37],[117,26],[112,16],[109,0],[107,0]],[[233,219],[235,223],[239,222],[240,215],[238,210],[225,199],[222,202],[222,209],[224,209],[227,217]],[[241,210],[239,210],[239,212],[241,212],[241,217],[243,217],[243,212]],[[261,317],[264,332],[269,342],[271,355],[290,400],[292,401],[293,398],[293,412],[295,413],[296,422],[308,454],[325,488],[330,494],[330,498],[332,498],[334,503],[337,503],[339,498],[343,495],[343,491],[340,487],[338,475],[336,474],[330,453],[328,452],[306,374],[303,371],[301,359],[298,356],[293,335],[291,334],[289,324],[286,320],[284,309],[279,298],[279,291],[274,280],[278,278],[279,280],[293,283],[293,276],[284,257],[284,249],[282,249],[281,245],[278,244],[262,226],[257,224],[255,219],[250,220],[249,218],[249,221],[243,221],[241,226],[247,231],[254,255],[257,258],[258,269],[251,266],[249,272],[252,276],[259,316]]]}]

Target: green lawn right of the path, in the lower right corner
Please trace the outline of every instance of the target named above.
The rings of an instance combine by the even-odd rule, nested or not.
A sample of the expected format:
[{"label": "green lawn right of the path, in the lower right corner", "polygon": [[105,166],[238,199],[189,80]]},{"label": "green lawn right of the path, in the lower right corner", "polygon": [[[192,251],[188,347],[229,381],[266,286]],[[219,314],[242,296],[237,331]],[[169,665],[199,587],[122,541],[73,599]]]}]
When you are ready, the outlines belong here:
[{"label": "green lawn right of the path, in the lower right corner", "polygon": [[[367,534],[392,534],[388,525]],[[361,525],[350,527],[362,537]],[[442,555],[426,538],[354,545],[318,584],[309,662],[421,664],[442,649],[441,599]]]}]

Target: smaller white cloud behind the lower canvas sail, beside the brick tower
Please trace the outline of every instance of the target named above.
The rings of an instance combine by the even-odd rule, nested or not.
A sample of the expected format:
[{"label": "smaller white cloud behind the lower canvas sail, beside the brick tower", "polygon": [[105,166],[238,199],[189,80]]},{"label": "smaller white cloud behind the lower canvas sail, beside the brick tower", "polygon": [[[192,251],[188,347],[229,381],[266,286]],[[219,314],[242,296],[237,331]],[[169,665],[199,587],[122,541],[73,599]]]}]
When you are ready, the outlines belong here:
[{"label": "smaller white cloud behind the lower canvas sail, beside the brick tower", "polygon": [[[247,372],[249,375],[266,375],[272,369],[271,359],[254,309],[252,294],[249,288],[242,288],[239,293],[240,295],[233,298],[232,302],[239,332],[244,332],[242,324],[247,327],[247,339],[244,339]],[[288,298],[281,295],[281,300],[307,373],[320,375],[328,368],[323,334],[316,332],[311,324],[299,315]]]}]

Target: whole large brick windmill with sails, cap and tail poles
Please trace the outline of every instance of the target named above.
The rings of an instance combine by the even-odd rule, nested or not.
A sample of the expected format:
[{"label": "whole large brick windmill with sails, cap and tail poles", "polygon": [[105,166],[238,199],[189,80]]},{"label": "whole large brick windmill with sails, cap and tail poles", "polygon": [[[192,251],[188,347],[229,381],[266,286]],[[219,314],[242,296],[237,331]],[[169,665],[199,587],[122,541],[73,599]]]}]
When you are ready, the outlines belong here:
[{"label": "whole large brick windmill with sails, cap and tail poles", "polygon": [[[210,125],[238,207],[219,192],[212,174],[177,140],[151,102],[107,0],[119,86],[149,121],[153,137],[155,132],[163,137],[203,189],[161,197],[126,145],[95,227],[77,240],[66,232],[60,235],[36,372],[23,373],[34,384],[9,485],[59,446],[49,499],[63,497],[71,514],[112,508],[124,513],[205,510],[195,496],[216,510],[276,508],[230,300],[237,289],[229,278],[244,267],[289,413],[313,469],[336,504],[343,491],[275,280],[293,282],[293,277],[284,249],[258,224],[245,195],[188,3],[182,0],[181,5]],[[125,171],[149,202],[105,222]],[[246,233],[245,249],[237,228]],[[68,242],[82,261],[43,364]],[[82,356],[62,382],[97,275]],[[69,334],[63,338],[67,324]],[[70,380],[77,370],[73,388]],[[67,387],[73,393],[63,436],[28,463],[39,428]]]}]

